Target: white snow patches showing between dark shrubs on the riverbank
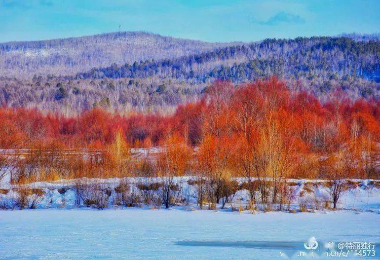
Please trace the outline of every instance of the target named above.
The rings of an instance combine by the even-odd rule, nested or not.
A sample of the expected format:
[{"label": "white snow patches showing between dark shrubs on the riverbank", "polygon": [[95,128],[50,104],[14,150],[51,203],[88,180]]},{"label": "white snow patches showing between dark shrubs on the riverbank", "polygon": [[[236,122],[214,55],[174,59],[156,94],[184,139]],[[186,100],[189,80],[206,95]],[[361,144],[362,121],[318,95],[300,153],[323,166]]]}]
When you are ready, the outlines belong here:
[{"label": "white snow patches showing between dark shrubs on the riverbank", "polygon": [[[182,201],[181,206],[190,205],[197,208],[197,186],[192,183],[194,177],[177,177],[175,183],[180,187],[178,201]],[[244,179],[237,178],[238,182],[244,182]],[[15,186],[11,185],[9,182],[0,183],[0,208],[2,203],[11,204],[18,196],[18,191],[20,187],[27,189],[32,189],[34,191],[40,190],[43,192],[43,197],[36,202],[36,208],[66,208],[72,209],[77,208],[75,205],[75,198],[77,194],[75,193],[75,182],[78,180],[58,180],[51,182],[34,182],[28,185]],[[83,185],[86,187],[88,185],[100,185],[102,192],[107,193],[109,198],[108,208],[115,207],[115,201],[120,197],[117,192],[117,187],[121,183],[119,178],[110,179],[80,179]],[[123,181],[128,183],[129,194],[134,193],[141,195],[142,191],[139,188],[140,184],[146,183],[160,183],[163,181],[162,178],[124,178]],[[289,179],[288,183],[293,183],[294,189],[296,191],[296,197],[291,205],[292,209],[298,209],[298,200],[300,198],[307,198],[310,204],[313,203],[315,198],[322,200],[324,198],[329,198],[329,191],[326,187],[326,182],[324,180],[299,180],[299,179]],[[160,190],[152,191],[155,198],[159,198],[161,195]],[[258,192],[257,192],[258,193]],[[226,207],[231,206],[238,207],[242,205],[243,207],[249,201],[249,194],[247,190],[239,190],[234,196],[231,196],[231,203],[227,203]],[[83,200],[81,201],[81,206],[83,205]],[[141,205],[140,205],[141,206]],[[142,205],[144,206],[144,205]],[[8,205],[8,208],[12,206]],[[17,207],[16,207],[17,208]],[[339,199],[338,208],[342,209],[353,209],[353,210],[371,210],[374,212],[380,211],[380,180],[350,180],[349,190],[345,191]]]}]

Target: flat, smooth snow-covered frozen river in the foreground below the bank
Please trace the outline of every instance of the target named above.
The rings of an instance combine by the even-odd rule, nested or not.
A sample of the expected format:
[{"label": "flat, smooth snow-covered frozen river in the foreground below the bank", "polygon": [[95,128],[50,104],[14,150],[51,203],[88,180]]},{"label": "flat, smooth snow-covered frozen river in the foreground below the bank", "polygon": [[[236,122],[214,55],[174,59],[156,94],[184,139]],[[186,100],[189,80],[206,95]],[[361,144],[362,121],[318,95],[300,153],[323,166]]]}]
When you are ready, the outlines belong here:
[{"label": "flat, smooth snow-covered frozen river in the foreground below the bank", "polygon": [[[376,242],[375,256],[369,258],[378,259],[380,214],[141,208],[0,211],[0,259],[303,259],[308,257],[299,256],[299,250],[308,253],[303,243],[312,236],[319,242],[318,254],[322,242]],[[288,256],[281,256],[284,253]],[[322,253],[319,258],[338,256]]]}]

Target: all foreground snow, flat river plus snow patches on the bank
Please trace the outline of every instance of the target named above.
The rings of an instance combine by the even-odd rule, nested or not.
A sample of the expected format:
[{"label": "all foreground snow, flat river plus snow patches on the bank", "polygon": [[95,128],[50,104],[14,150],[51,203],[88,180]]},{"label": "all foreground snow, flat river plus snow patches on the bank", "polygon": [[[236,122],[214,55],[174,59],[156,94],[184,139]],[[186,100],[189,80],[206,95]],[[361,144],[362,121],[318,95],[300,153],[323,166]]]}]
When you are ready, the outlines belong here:
[{"label": "all foreground snow, flat river plus snow patches on the bank", "polygon": [[[87,179],[92,183],[94,179]],[[130,189],[139,192],[138,178],[129,178]],[[159,179],[152,179],[159,181]],[[321,180],[292,180],[297,197],[326,196]],[[189,177],[181,183],[180,196],[186,203],[171,209],[119,207],[114,204],[119,179],[98,179],[110,191],[108,207],[75,205],[73,180],[36,182],[42,189],[37,209],[0,210],[0,259],[303,259],[346,257],[341,250],[325,248],[328,242],[376,243],[370,257],[380,259],[380,185],[378,180],[352,180],[340,198],[341,210],[311,209],[296,213],[273,211],[241,213],[226,209],[200,210],[195,186]],[[309,188],[308,188],[309,187]],[[0,185],[0,202],[12,204],[17,186]],[[3,190],[1,190],[3,189]],[[160,191],[157,191],[158,193]],[[303,195],[302,195],[303,194]],[[302,197],[301,197],[302,195]],[[234,203],[247,203],[247,191],[240,190]],[[4,204],[5,205],[5,204]],[[12,204],[13,205],[13,204]],[[9,207],[8,207],[9,208]],[[206,206],[207,208],[207,206]],[[311,251],[304,243],[315,237],[318,247]],[[325,252],[333,256],[325,255]],[[343,250],[345,251],[345,250]],[[347,251],[345,251],[347,252]]]}]

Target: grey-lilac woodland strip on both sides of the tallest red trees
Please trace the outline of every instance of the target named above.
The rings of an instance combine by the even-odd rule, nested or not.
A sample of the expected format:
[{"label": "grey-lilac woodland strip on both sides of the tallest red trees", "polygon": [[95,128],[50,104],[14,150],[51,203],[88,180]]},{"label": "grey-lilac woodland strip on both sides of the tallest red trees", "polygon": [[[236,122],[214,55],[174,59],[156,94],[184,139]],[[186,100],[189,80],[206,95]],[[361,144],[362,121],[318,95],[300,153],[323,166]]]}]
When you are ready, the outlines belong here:
[{"label": "grey-lilac woodland strip on both sides of the tallest red trees", "polygon": [[[336,91],[350,99],[380,98],[380,83],[361,78],[285,80],[291,91],[307,91],[325,102]],[[32,80],[0,78],[0,104],[37,108],[66,116],[100,108],[118,113],[172,114],[178,104],[202,99],[210,84],[189,84],[173,78],[104,78],[60,80],[34,76]]]}]

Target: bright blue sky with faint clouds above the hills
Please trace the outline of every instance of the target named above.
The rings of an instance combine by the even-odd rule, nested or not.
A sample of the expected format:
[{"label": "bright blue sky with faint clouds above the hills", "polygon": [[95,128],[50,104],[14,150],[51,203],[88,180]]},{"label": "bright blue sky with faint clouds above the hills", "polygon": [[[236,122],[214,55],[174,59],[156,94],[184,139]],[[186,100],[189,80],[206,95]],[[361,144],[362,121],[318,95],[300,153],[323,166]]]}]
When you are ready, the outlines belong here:
[{"label": "bright blue sky with faint clouds above the hills", "polygon": [[377,0],[0,0],[0,42],[143,30],[209,42],[380,31]]}]

